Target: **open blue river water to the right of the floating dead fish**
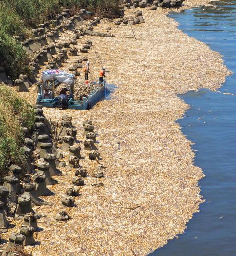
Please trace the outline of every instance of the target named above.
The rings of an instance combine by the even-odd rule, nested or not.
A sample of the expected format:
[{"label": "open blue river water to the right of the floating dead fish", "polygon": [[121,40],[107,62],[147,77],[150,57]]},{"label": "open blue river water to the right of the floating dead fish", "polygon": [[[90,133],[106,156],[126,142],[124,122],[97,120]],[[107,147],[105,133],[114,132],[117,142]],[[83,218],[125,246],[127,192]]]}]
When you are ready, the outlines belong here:
[{"label": "open blue river water to the right of the floating dead fish", "polygon": [[184,234],[150,256],[236,255],[236,0],[212,3],[170,14],[181,30],[220,52],[234,72],[219,92],[201,89],[179,96],[191,106],[177,122],[195,143],[195,165],[206,175],[199,182],[206,201]]}]

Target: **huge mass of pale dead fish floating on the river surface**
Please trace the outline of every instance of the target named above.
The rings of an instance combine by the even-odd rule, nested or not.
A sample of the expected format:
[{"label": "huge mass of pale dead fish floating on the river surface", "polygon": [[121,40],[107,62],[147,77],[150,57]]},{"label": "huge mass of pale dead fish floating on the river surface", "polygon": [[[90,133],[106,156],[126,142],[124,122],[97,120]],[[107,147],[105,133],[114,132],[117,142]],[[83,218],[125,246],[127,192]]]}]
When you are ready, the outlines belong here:
[{"label": "huge mass of pale dead fish floating on the river surface", "polygon": [[[188,8],[205,1],[184,3]],[[91,189],[85,178],[88,185],[66,224],[56,223],[49,207],[37,207],[47,217],[39,220],[44,230],[35,255],[145,255],[182,233],[202,202],[202,170],[193,165],[191,142],[175,123],[188,108],[177,94],[216,89],[229,72],[218,53],[177,29],[166,16],[170,10],[142,11],[137,40],[86,37],[94,45],[87,55],[91,75],[100,69],[100,55],[110,70],[107,82],[119,87],[112,100],[91,111],[44,109],[51,118],[70,114],[76,125],[92,119],[107,169],[103,188]],[[108,26],[115,35],[132,36],[127,26],[102,23],[96,30]],[[61,189],[51,188],[56,199]]]}]

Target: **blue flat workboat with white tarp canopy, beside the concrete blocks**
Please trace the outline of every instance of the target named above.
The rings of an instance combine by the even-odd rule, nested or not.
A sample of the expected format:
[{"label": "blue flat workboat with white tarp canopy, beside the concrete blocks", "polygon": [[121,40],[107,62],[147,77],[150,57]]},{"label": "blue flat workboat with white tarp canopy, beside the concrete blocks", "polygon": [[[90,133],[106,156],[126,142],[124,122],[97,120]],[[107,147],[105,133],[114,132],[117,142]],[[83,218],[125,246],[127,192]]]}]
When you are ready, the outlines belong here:
[{"label": "blue flat workboat with white tarp canopy, beside the concrete blocks", "polygon": [[[63,107],[72,110],[89,110],[100,100],[105,98],[105,82],[97,84],[87,97],[82,97],[80,101],[74,99],[74,75],[61,70],[46,70],[42,74],[40,90],[37,97],[37,104],[48,108]],[[63,103],[60,96],[55,96],[54,91],[60,83],[68,85],[66,88],[70,92],[66,103]]]}]

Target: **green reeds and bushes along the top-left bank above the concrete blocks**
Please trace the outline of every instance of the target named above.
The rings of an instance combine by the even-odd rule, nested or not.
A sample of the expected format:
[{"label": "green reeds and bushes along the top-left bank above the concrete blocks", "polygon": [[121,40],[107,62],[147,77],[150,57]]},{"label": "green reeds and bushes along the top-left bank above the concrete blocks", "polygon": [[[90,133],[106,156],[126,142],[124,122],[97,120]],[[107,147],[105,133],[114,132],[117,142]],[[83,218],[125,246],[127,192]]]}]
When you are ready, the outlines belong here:
[{"label": "green reeds and bushes along the top-left bank above the concrete blocks", "polygon": [[53,19],[63,8],[86,8],[100,17],[118,14],[120,0],[0,0],[0,66],[17,79],[21,73],[30,73],[29,57],[12,36],[30,37],[30,30],[39,23]]}]

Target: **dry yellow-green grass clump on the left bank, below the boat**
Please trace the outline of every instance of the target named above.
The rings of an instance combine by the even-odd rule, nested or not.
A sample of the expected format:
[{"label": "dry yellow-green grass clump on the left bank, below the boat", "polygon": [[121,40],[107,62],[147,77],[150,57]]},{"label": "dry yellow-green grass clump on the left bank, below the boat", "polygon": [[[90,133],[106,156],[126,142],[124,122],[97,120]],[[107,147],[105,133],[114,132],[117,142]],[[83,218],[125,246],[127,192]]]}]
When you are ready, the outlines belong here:
[{"label": "dry yellow-green grass clump on the left bank, below the boat", "polygon": [[0,84],[0,180],[7,174],[11,163],[24,166],[22,127],[31,130],[34,121],[32,106],[8,86]]}]

